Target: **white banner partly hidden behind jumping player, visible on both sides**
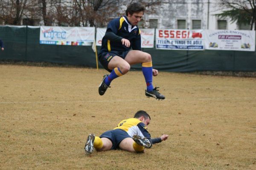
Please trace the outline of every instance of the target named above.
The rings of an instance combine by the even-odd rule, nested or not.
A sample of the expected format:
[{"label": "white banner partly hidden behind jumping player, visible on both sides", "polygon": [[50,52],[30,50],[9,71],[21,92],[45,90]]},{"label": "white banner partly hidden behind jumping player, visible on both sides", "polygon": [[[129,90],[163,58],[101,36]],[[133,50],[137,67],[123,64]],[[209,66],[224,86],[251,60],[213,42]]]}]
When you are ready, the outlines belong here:
[{"label": "white banner partly hidden behind jumping player, visible on both sides", "polygon": [[[102,45],[102,38],[105,35],[107,28],[97,28],[96,45]],[[140,29],[141,48],[154,48],[154,28]]]}]

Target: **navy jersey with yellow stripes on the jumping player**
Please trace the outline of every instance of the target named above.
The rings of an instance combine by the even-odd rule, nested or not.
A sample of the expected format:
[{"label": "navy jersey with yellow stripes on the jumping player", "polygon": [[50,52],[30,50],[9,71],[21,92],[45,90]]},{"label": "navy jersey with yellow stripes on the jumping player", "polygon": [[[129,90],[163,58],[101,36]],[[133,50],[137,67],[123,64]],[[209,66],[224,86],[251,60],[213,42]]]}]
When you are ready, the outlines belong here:
[{"label": "navy jersey with yellow stripes on the jumping player", "polygon": [[131,42],[130,47],[122,45],[122,42],[113,42],[105,38],[102,38],[102,48],[99,52],[108,51],[128,51],[131,48],[133,50],[141,51],[141,39],[140,39],[140,29],[137,26],[132,26],[126,16],[121,18],[116,18],[108,23],[107,31],[112,31],[119,37],[125,38]]}]

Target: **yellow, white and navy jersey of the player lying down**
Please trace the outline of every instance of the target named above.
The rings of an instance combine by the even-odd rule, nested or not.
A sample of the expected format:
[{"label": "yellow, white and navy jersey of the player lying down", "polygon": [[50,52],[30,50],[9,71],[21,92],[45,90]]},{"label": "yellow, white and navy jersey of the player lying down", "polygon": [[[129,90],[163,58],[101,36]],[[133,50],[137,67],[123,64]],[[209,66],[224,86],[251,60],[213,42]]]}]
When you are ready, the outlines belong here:
[{"label": "yellow, white and navy jersey of the player lying down", "polygon": [[122,120],[114,129],[125,130],[129,136],[139,135],[151,139],[150,134],[148,133],[147,127],[143,122],[137,118],[130,118]]}]

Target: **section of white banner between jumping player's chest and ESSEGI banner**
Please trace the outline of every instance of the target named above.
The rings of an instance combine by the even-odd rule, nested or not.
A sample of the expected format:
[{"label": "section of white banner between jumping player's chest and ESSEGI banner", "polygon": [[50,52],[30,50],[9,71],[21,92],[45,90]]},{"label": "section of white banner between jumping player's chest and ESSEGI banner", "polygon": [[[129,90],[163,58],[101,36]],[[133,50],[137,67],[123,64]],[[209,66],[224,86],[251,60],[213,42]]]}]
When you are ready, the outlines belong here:
[{"label": "section of white banner between jumping player's chest and ESSEGI banner", "polygon": [[154,48],[154,28],[140,29],[141,48]]}]

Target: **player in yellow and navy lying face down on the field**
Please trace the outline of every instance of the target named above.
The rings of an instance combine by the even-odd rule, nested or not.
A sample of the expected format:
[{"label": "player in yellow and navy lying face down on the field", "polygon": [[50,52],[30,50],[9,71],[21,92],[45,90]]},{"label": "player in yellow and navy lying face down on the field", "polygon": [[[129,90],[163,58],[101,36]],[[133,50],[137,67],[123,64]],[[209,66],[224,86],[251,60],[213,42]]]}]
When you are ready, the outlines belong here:
[{"label": "player in yellow and navy lying face down on the field", "polygon": [[144,153],[145,148],[150,148],[152,144],[160,143],[169,136],[162,135],[151,139],[146,127],[150,119],[145,111],[137,111],[134,118],[122,120],[113,130],[108,130],[99,137],[89,134],[84,150],[87,154],[93,152],[93,147],[97,151],[122,149]]}]

